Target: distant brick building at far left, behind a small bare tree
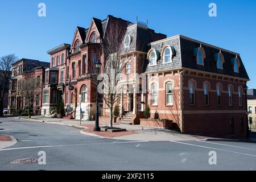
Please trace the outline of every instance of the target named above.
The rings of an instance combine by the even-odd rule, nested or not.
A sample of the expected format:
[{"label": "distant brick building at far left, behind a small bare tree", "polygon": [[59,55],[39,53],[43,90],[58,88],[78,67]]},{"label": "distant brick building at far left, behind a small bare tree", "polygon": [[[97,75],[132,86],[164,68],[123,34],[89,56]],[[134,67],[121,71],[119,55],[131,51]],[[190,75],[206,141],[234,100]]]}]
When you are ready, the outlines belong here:
[{"label": "distant brick building at far left, behind a small bare tree", "polygon": [[40,114],[44,73],[45,69],[49,67],[49,63],[31,59],[20,59],[12,66],[13,72],[9,84],[8,113],[14,114],[16,111],[24,110],[27,107],[24,98],[20,96],[19,89],[21,81],[27,76],[32,76],[35,77],[36,86],[38,86],[38,90],[36,90],[38,94],[33,103],[33,112],[34,114]]}]

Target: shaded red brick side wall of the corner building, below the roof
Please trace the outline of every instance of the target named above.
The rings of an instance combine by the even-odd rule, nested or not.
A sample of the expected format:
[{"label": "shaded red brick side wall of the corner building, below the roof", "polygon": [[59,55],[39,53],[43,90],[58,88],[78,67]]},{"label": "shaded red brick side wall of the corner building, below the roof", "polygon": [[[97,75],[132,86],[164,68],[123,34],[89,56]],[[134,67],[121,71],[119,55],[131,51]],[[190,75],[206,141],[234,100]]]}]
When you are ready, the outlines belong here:
[{"label": "shaded red brick side wall of the corner building, below the roof", "polygon": [[[195,105],[189,105],[188,82],[193,79],[196,82]],[[210,84],[209,105],[204,105],[203,82]],[[222,105],[217,105],[216,84],[222,85]],[[233,106],[229,106],[228,85],[233,85]],[[239,82],[230,82],[210,78],[184,75],[183,79],[183,131],[184,133],[205,134],[205,135],[235,135],[236,137],[246,136],[246,113],[245,94],[242,95],[243,105],[238,103]],[[234,134],[230,126],[230,118],[234,118]],[[241,126],[243,118],[243,127]]]}]

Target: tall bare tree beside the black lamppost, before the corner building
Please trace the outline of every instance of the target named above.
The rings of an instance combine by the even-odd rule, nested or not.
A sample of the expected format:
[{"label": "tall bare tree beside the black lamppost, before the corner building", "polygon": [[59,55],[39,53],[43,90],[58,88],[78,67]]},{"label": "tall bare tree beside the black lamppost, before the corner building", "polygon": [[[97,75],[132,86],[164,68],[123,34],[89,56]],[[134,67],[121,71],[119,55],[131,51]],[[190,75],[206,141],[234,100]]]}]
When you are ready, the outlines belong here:
[{"label": "tall bare tree beside the black lamppost, before the corner building", "polygon": [[[126,27],[120,27],[118,22],[110,22],[108,31],[100,43],[100,51],[104,55],[104,63],[101,75],[103,80],[99,87],[104,87],[104,92],[101,93],[102,100],[110,109],[109,126],[113,127],[113,105],[118,100],[118,83],[122,78],[126,64],[130,60],[131,48],[123,45],[125,38]],[[91,65],[92,73],[95,73],[95,65]],[[97,85],[97,74],[92,76],[92,81]]]}]

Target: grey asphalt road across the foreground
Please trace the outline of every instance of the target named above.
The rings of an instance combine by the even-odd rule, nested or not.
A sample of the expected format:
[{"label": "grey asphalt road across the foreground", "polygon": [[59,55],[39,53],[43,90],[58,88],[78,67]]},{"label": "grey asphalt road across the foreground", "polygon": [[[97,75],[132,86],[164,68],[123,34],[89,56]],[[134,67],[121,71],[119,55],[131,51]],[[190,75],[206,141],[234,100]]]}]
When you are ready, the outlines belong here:
[{"label": "grey asphalt road across the foreground", "polygon": [[[114,140],[7,118],[0,118],[0,133],[18,139],[0,150],[0,170],[256,170],[256,143]],[[46,165],[10,164],[38,159],[39,151],[46,152]],[[209,164],[210,151],[216,152],[217,164]]]}]

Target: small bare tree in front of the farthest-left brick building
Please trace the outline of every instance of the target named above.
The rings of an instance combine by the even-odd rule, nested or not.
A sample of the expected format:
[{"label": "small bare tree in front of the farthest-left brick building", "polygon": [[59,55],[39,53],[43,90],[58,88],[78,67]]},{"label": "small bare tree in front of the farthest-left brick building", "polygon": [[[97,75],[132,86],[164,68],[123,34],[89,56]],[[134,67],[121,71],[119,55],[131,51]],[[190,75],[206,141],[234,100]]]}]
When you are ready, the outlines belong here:
[{"label": "small bare tree in front of the farthest-left brick building", "polygon": [[33,76],[27,76],[21,81],[20,84],[20,95],[26,101],[28,107],[28,117],[31,118],[30,109],[33,107],[33,102],[36,99],[36,94],[40,91],[38,86],[36,86],[36,78]]}]

